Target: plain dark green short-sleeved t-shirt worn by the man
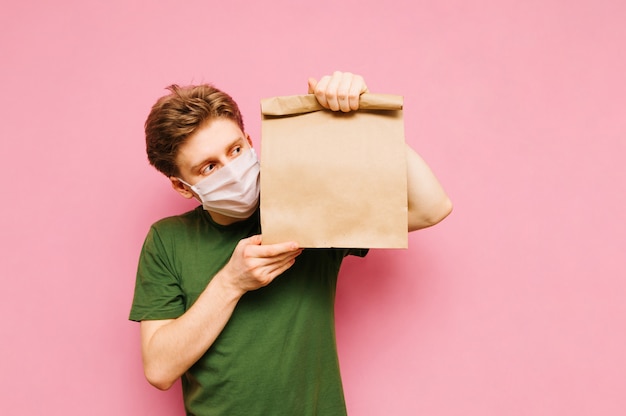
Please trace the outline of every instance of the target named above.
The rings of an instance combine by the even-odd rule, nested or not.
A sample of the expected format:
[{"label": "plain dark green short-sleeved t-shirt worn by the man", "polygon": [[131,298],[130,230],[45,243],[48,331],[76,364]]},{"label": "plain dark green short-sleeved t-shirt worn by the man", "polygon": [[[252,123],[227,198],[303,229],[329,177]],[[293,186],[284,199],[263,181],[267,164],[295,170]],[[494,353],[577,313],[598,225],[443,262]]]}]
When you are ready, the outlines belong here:
[{"label": "plain dark green short-sleeved t-shirt worn by the man", "polygon": [[[196,301],[237,243],[260,232],[258,211],[229,226],[198,207],[152,226],[130,313],[172,319]],[[307,249],[270,285],[246,293],[226,327],[183,376],[189,415],[345,415],[335,342],[337,274],[348,254]]]}]

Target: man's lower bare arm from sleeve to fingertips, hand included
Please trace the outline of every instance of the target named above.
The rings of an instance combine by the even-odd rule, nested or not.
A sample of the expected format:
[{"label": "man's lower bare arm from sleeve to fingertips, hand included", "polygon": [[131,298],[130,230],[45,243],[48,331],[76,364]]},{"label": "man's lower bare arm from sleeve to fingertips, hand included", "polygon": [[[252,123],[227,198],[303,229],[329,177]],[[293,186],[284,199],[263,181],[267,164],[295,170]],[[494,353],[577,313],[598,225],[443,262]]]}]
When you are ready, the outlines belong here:
[{"label": "man's lower bare arm from sleeve to fingertips, hand included", "polygon": [[213,345],[239,299],[270,284],[302,252],[295,242],[263,246],[261,241],[260,235],[241,240],[226,266],[182,316],[141,322],[143,365],[150,384],[170,388]]}]

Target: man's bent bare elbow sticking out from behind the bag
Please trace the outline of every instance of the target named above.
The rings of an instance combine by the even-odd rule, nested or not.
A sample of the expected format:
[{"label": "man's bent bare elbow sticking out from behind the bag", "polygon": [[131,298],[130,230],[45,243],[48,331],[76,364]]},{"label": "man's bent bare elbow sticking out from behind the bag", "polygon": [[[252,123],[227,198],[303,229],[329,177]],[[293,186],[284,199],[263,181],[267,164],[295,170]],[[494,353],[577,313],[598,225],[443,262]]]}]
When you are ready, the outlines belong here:
[{"label": "man's bent bare elbow sticking out from behind the bag", "polygon": [[408,228],[430,227],[452,211],[452,202],[430,167],[410,146],[407,153]]}]

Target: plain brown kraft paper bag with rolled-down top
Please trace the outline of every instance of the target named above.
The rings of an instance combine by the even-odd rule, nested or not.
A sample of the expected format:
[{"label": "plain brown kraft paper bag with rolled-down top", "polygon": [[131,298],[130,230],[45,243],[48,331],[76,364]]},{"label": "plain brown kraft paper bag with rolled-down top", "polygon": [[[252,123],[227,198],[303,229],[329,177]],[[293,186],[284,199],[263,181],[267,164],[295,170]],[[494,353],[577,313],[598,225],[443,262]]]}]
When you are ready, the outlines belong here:
[{"label": "plain brown kraft paper bag with rolled-down top", "polygon": [[263,244],[407,247],[401,96],[366,93],[349,113],[273,97],[261,112]]}]

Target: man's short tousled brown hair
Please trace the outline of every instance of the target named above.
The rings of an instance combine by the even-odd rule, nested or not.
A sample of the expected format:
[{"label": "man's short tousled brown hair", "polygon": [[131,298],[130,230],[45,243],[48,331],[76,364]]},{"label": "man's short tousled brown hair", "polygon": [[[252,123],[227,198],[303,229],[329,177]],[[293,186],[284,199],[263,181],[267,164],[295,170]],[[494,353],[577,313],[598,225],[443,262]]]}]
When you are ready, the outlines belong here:
[{"label": "man's short tousled brown hair", "polygon": [[166,176],[179,175],[178,148],[204,122],[214,118],[233,120],[243,131],[243,118],[237,103],[225,92],[209,84],[167,87],[146,119],[148,161]]}]

